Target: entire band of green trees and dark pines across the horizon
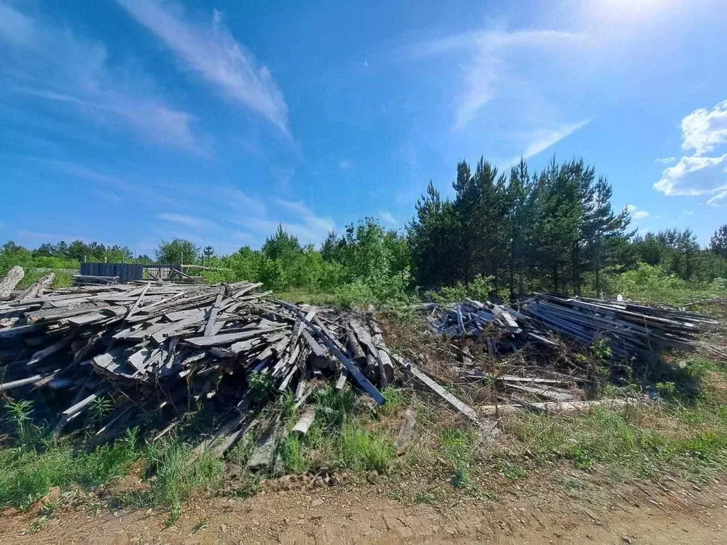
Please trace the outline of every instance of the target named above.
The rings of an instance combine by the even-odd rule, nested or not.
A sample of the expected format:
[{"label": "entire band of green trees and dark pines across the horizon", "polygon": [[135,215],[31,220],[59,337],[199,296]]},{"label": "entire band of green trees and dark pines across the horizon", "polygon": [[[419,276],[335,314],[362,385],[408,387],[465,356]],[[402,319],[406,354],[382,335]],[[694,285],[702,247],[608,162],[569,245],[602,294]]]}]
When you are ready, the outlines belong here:
[{"label": "entire band of green trees and dark pines across the horizon", "polygon": [[62,267],[84,259],[183,262],[213,267],[202,273],[210,282],[255,280],[278,291],[304,288],[363,300],[471,285],[503,296],[609,293],[613,278],[642,264],[685,282],[727,278],[727,225],[704,249],[689,229],[637,235],[629,211],[614,209],[606,177],[580,158],[554,158],[537,172],[521,160],[507,173],[483,158],[474,169],[461,161],[452,187],[454,197],[443,198],[430,182],[401,231],[366,218],[330,233],[320,249],[300,244],[282,227],[261,249],[245,246],[226,256],[179,238],[161,241],[153,259],[103,243],[29,250],[10,241],[0,251],[0,273],[13,264]]}]

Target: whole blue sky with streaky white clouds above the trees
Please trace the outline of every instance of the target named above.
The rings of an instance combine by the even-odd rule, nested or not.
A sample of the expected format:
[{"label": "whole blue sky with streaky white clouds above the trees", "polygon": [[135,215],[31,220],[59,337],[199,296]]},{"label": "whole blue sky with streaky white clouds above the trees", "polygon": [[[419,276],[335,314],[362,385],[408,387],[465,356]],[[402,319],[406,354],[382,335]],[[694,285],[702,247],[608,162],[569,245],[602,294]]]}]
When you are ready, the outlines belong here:
[{"label": "whole blue sky with streaky white clouds above the trees", "polygon": [[[279,4],[279,5],[278,5]],[[0,0],[0,241],[402,228],[457,161],[583,156],[641,230],[727,222],[722,1]]]}]

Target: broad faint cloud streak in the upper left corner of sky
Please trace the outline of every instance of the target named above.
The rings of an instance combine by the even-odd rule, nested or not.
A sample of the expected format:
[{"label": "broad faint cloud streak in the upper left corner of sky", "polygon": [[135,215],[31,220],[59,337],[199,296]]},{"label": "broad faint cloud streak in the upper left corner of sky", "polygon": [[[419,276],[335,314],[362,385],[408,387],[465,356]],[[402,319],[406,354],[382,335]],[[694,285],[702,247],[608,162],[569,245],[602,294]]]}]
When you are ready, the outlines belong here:
[{"label": "broad faint cloud streak in the upper left corner of sky", "polygon": [[[124,126],[146,140],[200,152],[194,118],[168,105],[148,76],[111,68],[103,44],[0,4],[5,89],[65,105],[97,126]],[[23,104],[25,108],[25,104]]]}]

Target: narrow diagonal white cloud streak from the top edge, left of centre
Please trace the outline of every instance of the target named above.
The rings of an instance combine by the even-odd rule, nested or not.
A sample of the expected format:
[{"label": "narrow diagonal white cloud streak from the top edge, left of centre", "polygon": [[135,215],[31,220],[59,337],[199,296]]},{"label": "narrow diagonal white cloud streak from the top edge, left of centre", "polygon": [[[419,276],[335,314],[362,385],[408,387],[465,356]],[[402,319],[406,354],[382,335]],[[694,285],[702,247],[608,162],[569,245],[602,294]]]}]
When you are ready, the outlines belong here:
[{"label": "narrow diagonal white cloud streak from the top edge, left of centre", "polygon": [[234,39],[220,12],[214,10],[211,23],[196,23],[185,20],[179,7],[157,0],[118,1],[172,49],[183,68],[290,134],[288,106],[270,70]]}]

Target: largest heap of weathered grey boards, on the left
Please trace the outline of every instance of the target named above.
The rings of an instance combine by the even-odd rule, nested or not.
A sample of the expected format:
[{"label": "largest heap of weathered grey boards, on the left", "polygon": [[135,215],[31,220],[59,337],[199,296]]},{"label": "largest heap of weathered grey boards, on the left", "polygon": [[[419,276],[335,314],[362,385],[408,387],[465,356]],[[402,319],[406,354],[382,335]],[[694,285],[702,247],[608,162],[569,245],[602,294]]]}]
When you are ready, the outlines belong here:
[{"label": "largest heap of weathered grey boards, on the left", "polygon": [[[212,403],[204,448],[223,453],[275,392],[298,406],[347,381],[384,403],[393,362],[373,320],[271,299],[257,283],[74,286],[0,302],[0,391],[36,400],[55,433],[86,427],[103,398],[99,442],[129,426],[168,434]],[[315,413],[305,413],[303,433]],[[274,426],[273,426],[274,427]]]}]

